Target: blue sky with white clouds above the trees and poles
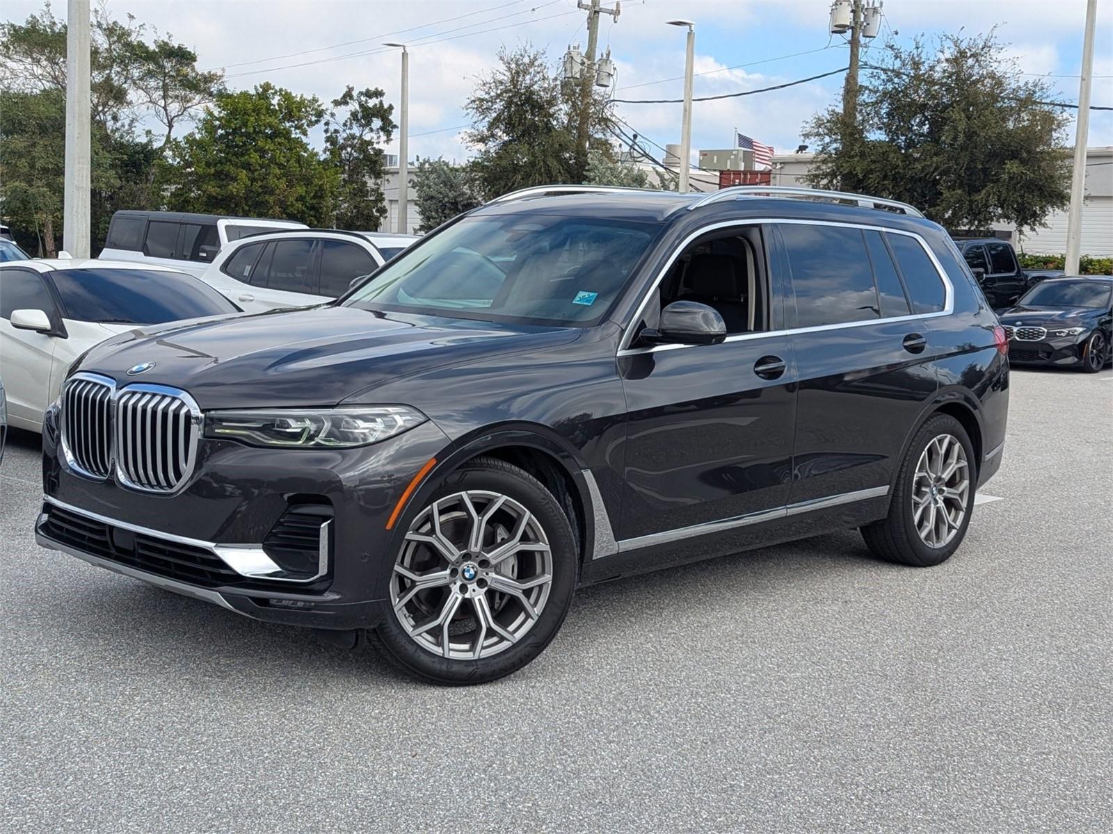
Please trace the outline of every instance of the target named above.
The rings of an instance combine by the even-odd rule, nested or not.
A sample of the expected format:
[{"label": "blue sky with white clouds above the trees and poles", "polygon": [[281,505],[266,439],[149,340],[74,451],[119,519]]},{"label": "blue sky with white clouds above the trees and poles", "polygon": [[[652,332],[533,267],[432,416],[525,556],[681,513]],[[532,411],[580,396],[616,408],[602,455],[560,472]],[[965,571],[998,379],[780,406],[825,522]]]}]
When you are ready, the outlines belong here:
[{"label": "blue sky with white clouds above the trees and poles", "polygon": [[[1111,7],[1113,0],[1099,1],[1094,72],[1104,78],[1095,79],[1093,103],[1105,106],[1113,106]],[[29,0],[4,0],[2,14],[21,20],[37,8]],[[197,51],[201,67],[225,67],[232,87],[269,80],[322,99],[352,83],[382,87],[396,101],[397,52],[380,43],[412,42],[411,156],[455,159],[469,153],[460,137],[467,122],[461,106],[500,46],[529,41],[556,62],[570,42],[587,40],[575,0],[108,0],[108,8],[171,32]],[[664,24],[678,17],[697,26],[696,71],[707,73],[696,78],[697,97],[845,67],[845,43],[827,32],[828,8],[829,0],[624,2],[618,22],[604,17],[600,30],[601,44],[610,46],[619,66],[615,98],[681,96],[680,80],[652,83],[683,73],[683,30]],[[59,0],[56,10],[65,14],[66,3]],[[1084,17],[1085,0],[886,0],[883,31],[906,41],[922,32],[977,33],[996,26],[1024,71],[1064,76],[1050,80],[1064,100],[1075,101]],[[806,54],[794,54],[800,52]],[[747,66],[726,69],[739,64]],[[835,76],[697,103],[692,147],[729,147],[737,127],[778,150],[794,150],[801,125],[838,98],[840,85]],[[679,141],[680,105],[619,105],[617,112],[654,142]],[[1113,112],[1092,115],[1090,145],[1113,145]]]}]

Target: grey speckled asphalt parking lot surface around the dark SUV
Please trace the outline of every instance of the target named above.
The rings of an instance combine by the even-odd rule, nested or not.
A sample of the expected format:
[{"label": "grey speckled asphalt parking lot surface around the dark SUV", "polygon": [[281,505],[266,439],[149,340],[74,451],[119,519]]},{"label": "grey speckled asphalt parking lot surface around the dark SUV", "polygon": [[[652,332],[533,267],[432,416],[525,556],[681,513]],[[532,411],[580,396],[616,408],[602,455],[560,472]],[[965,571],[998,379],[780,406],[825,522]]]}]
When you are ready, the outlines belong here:
[{"label": "grey speckled asphalt parking lot surface around the dark SUV", "polygon": [[3,827],[1113,830],[1113,373],[1013,374],[945,565],[856,533],[581,593],[445,689],[35,545],[0,470]]}]

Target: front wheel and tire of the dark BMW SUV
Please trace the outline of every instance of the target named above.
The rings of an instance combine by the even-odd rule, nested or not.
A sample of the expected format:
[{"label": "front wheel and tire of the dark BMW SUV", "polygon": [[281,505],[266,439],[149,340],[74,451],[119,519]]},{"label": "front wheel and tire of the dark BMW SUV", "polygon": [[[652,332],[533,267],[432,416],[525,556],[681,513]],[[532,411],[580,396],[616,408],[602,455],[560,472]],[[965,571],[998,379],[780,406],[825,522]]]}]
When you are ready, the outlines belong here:
[{"label": "front wheel and tire of the dark BMW SUV", "polygon": [[572,603],[579,553],[568,516],[539,480],[476,458],[408,513],[405,529],[383,566],[386,616],[368,632],[388,659],[461,686],[509,675],[544,651]]}]

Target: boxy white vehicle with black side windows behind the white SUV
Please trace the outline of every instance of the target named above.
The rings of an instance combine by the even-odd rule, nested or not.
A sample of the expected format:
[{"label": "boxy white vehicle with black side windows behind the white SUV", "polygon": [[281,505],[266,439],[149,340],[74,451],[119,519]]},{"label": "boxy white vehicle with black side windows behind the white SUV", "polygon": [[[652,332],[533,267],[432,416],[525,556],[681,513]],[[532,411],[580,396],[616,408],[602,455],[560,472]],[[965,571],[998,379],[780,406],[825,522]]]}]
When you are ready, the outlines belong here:
[{"label": "boxy white vehicle with black side windows behind the white SUV", "polygon": [[174,267],[200,278],[221,248],[262,231],[304,229],[295,220],[194,215],[183,211],[117,211],[99,258]]}]

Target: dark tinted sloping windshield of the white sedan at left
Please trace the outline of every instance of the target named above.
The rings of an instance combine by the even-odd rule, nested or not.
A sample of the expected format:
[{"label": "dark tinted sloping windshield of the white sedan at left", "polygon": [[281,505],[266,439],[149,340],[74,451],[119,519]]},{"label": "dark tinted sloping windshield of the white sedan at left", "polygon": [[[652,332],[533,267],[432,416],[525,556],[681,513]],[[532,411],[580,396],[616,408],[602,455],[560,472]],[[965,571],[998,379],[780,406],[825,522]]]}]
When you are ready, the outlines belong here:
[{"label": "dark tinted sloping windshield of the white sedan at left", "polygon": [[59,269],[51,274],[65,318],[119,325],[160,325],[239,312],[207,284],[181,272],[148,269]]}]

